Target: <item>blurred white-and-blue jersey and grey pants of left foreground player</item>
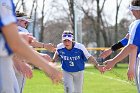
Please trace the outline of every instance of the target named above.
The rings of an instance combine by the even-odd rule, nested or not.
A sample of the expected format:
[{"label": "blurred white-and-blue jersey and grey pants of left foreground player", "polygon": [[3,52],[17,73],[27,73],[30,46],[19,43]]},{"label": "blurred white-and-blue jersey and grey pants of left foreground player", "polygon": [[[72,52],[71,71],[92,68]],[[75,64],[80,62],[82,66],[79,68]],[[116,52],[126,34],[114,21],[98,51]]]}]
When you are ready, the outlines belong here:
[{"label": "blurred white-and-blue jersey and grey pants of left foreground player", "polygon": [[0,0],[0,93],[19,93],[13,69],[12,51],[5,41],[1,28],[16,22],[12,0]]}]

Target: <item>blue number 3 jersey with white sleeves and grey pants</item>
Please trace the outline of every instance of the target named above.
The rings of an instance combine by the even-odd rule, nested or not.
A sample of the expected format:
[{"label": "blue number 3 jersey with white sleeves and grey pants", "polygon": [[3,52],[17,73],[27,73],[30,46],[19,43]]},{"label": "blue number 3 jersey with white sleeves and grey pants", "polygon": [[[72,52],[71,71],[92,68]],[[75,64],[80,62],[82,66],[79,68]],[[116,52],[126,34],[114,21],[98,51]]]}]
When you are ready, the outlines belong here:
[{"label": "blue number 3 jersey with white sleeves and grey pants", "polygon": [[77,42],[71,50],[67,50],[63,43],[58,44],[56,53],[62,64],[65,93],[82,93],[85,61],[91,55],[84,45]]}]

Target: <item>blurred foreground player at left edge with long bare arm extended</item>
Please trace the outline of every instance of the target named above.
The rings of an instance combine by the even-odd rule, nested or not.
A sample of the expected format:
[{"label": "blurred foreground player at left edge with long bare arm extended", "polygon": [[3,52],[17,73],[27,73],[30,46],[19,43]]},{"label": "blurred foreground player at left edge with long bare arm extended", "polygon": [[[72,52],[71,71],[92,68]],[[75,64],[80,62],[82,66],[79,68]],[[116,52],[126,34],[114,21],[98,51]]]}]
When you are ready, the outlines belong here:
[{"label": "blurred foreground player at left edge with long bare arm extended", "polygon": [[[61,73],[24,42],[17,30],[13,0],[0,0],[0,93],[20,93],[12,63],[13,52],[48,74],[53,82],[61,80]],[[17,47],[18,46],[18,47]],[[12,52],[13,51],[13,52]]]}]

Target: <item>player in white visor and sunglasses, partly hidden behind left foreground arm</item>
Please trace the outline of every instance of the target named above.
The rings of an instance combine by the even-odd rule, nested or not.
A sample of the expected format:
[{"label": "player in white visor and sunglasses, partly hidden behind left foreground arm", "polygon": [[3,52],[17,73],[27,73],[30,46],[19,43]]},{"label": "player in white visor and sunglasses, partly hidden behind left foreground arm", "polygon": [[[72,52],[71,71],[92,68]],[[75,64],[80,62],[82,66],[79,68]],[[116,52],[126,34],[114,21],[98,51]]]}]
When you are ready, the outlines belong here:
[{"label": "player in white visor and sunglasses, partly hidden behind left foreground arm", "polygon": [[[28,24],[30,22],[32,22],[32,20],[29,19],[27,17],[27,15],[25,15],[25,13],[21,13],[21,12],[17,11],[16,16],[17,16],[17,24],[18,24],[18,30],[19,30],[20,35],[23,36],[23,34],[24,34],[31,38],[29,45],[31,45],[32,47],[35,47],[35,48],[36,47],[46,48],[47,50],[50,50],[50,51],[55,50],[55,47],[53,44],[50,44],[50,43],[44,44],[42,42],[38,42],[29,33],[29,31],[26,28],[27,28]],[[47,61],[49,61],[49,62],[51,61],[51,57],[49,55],[43,54],[43,53],[39,53],[39,54],[41,56],[43,56]],[[16,72],[16,78],[17,78],[18,84],[19,84],[20,93],[22,93],[26,78],[29,78],[29,79],[32,78],[32,69],[31,69],[30,65],[28,65],[27,63],[24,62],[27,60],[19,57],[18,55],[14,55],[13,61],[15,63],[14,67],[15,67],[15,72]]]}]

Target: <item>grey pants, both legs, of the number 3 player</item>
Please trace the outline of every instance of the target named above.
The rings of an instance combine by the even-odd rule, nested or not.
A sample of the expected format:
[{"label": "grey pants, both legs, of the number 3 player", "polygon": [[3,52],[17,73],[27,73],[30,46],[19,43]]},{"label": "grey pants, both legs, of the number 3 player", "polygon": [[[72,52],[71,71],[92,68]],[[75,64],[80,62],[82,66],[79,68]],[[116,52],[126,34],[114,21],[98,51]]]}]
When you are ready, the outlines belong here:
[{"label": "grey pants, both legs, of the number 3 player", "polygon": [[65,93],[82,93],[84,71],[63,71]]}]

